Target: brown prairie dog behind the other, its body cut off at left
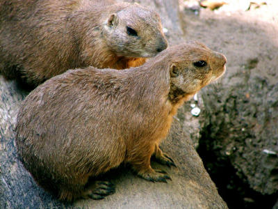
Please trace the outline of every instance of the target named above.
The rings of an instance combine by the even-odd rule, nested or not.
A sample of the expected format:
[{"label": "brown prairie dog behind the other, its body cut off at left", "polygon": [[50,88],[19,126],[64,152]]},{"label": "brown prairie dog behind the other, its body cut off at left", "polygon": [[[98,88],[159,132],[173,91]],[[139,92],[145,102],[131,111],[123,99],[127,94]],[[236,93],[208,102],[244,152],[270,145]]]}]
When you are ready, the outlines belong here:
[{"label": "brown prairie dog behind the other, its body cut off at left", "polygon": [[138,3],[0,3],[0,72],[37,86],[68,69],[124,69],[167,47],[159,15]]}]

